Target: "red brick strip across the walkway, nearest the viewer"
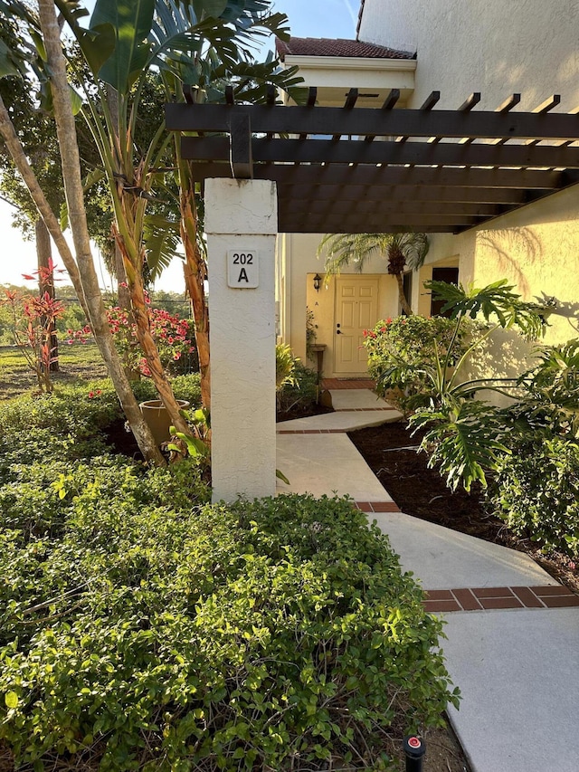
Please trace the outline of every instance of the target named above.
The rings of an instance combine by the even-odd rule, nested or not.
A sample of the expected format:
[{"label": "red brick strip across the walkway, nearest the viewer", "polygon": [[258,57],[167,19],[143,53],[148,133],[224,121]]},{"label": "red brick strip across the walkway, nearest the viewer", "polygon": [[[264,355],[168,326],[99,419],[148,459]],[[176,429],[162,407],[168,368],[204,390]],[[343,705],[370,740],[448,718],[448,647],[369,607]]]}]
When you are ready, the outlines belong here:
[{"label": "red brick strip across the walkway, nearest the viewer", "polygon": [[532,587],[463,587],[428,590],[426,611],[485,611],[500,608],[571,608],[579,596],[562,585]]}]

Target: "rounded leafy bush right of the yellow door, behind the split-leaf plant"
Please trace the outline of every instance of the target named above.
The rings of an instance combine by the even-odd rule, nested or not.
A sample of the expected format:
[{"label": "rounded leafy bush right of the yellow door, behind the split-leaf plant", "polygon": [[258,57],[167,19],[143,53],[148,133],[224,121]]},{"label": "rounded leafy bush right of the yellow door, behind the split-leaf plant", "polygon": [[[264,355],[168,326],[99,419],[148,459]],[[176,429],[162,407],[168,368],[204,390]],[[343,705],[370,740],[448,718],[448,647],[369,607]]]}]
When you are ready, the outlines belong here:
[{"label": "rounded leafy bush right of the yellow door, behind the split-leaf plant", "polygon": [[433,392],[426,370],[436,367],[453,347],[454,364],[468,347],[472,325],[462,320],[455,337],[456,322],[444,317],[396,317],[379,321],[365,330],[368,372],[375,379],[376,391],[403,413],[428,405]]}]

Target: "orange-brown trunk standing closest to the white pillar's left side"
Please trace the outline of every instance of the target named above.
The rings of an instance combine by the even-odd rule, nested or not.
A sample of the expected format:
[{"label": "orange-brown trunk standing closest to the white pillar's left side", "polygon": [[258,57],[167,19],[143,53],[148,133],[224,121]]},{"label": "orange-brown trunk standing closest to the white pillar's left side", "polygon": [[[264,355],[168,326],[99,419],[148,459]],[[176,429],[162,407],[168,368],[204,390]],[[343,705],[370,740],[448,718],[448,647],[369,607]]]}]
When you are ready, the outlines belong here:
[{"label": "orange-brown trunk standing closest to the white pillar's left side", "polygon": [[211,410],[211,372],[209,349],[209,310],[205,302],[204,282],[207,269],[203,255],[197,245],[197,212],[195,194],[192,190],[181,192],[181,240],[185,247],[185,287],[191,298],[195,319],[195,343],[201,374],[201,399],[204,407]]}]

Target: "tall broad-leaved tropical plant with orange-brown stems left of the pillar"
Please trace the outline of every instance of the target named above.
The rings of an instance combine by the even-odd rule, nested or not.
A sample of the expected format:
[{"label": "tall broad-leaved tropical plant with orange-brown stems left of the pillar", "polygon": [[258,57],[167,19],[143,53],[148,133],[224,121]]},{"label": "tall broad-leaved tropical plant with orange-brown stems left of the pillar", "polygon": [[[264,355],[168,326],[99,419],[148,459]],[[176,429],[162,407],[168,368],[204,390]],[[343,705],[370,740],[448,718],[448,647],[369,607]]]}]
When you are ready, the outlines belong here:
[{"label": "tall broad-leaved tropical plant with orange-brown stems left of the pillar", "polygon": [[[199,188],[189,164],[181,158],[179,138],[166,135],[164,119],[157,119],[152,138],[138,148],[135,138],[142,98],[152,78],[157,79],[165,100],[184,99],[185,86],[191,100],[224,100],[225,82],[236,84],[233,91],[237,99],[264,100],[268,86],[292,89],[297,83],[295,71],[277,73],[276,62],[270,59],[258,64],[250,52],[252,43],[265,33],[285,35],[287,19],[270,12],[269,0],[242,5],[234,0],[195,0],[179,5],[164,0],[142,4],[119,0],[111,5],[109,0],[98,0],[87,32],[78,24],[78,14],[71,12],[71,3],[57,2],[76,35],[91,72],[91,86],[99,96],[99,100],[92,96],[86,101],[84,112],[112,195],[115,238],[139,343],[172,421],[186,434],[178,405],[159,367],[154,340],[148,334],[143,269],[147,262],[155,271],[175,254],[176,243],[183,243],[204,406],[209,409],[207,271],[197,224]],[[100,58],[95,61],[95,40],[106,46],[111,32],[114,50],[104,63]],[[82,85],[86,91],[87,85]],[[114,110],[109,109],[111,90]],[[153,212],[147,214],[151,205]]]}]

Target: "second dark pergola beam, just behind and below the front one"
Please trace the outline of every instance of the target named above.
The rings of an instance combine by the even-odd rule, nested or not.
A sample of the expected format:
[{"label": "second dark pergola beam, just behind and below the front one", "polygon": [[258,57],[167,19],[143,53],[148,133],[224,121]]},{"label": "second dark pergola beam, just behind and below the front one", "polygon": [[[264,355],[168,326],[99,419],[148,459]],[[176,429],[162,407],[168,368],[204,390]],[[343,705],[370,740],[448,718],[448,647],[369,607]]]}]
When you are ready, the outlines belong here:
[{"label": "second dark pergola beam, just behind and below the front one", "polygon": [[[236,118],[236,120],[238,120]],[[239,119],[242,123],[242,119]],[[236,138],[237,134],[232,134]],[[233,140],[232,140],[233,141]],[[239,143],[245,149],[245,143]],[[227,137],[184,137],[184,158],[226,161],[230,156]],[[474,145],[425,142],[372,142],[326,139],[253,138],[253,161],[264,163],[388,164],[444,167],[545,167],[579,168],[579,148],[568,146]]]}]

